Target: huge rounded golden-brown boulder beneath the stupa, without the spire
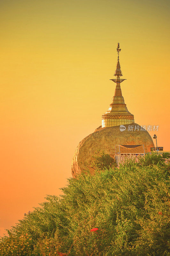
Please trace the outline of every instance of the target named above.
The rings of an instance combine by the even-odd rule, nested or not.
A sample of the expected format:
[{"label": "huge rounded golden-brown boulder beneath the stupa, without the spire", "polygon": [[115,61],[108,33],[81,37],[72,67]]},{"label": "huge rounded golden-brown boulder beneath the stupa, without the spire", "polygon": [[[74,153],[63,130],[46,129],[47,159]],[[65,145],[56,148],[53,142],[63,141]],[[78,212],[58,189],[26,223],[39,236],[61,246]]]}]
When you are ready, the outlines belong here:
[{"label": "huge rounded golden-brown boulder beneath the stupa, without the spire", "polygon": [[[75,178],[81,173],[81,170],[85,169],[83,163],[92,160],[92,156],[97,150],[103,150],[106,154],[114,157],[115,145],[143,145],[145,153],[150,152],[150,148],[154,147],[153,140],[150,134],[144,130],[140,125],[132,123],[130,126],[133,130],[129,130],[129,124],[124,125],[126,130],[120,131],[120,126],[112,127],[98,127],[95,132],[85,137],[76,148],[76,151],[72,160],[72,176]],[[140,127],[135,130],[136,127]],[[134,131],[135,130],[135,131]],[[139,131],[138,131],[139,130]],[[126,149],[128,151],[121,153],[143,153],[143,146],[139,148]],[[119,147],[116,146],[116,153],[119,151]],[[140,152],[139,152],[140,151]],[[142,151],[142,152],[141,152]],[[90,173],[93,175],[94,170],[91,169]]]}]

